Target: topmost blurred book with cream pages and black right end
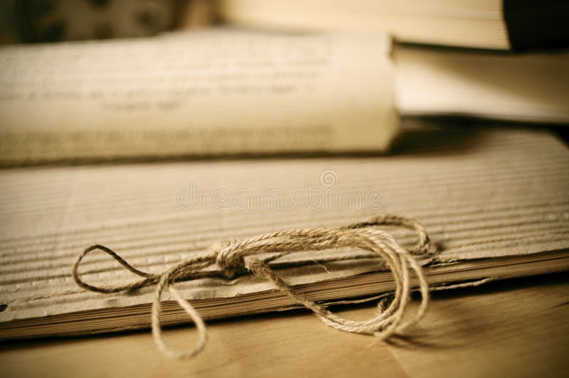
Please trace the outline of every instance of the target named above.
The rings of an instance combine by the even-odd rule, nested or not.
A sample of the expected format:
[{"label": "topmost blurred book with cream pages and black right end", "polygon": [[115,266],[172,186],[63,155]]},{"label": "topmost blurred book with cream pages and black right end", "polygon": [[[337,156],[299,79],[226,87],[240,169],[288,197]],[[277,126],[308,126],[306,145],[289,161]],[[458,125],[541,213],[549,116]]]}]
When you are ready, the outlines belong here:
[{"label": "topmost blurred book with cream pages and black right end", "polygon": [[222,0],[230,23],[277,30],[386,31],[399,41],[465,48],[566,47],[565,1]]}]

